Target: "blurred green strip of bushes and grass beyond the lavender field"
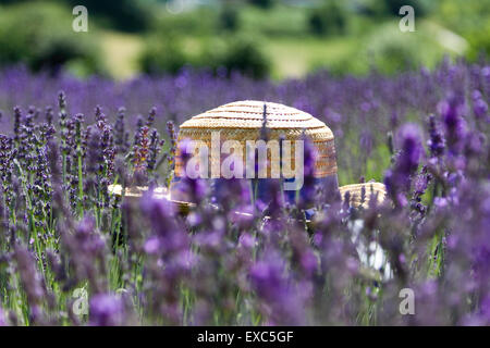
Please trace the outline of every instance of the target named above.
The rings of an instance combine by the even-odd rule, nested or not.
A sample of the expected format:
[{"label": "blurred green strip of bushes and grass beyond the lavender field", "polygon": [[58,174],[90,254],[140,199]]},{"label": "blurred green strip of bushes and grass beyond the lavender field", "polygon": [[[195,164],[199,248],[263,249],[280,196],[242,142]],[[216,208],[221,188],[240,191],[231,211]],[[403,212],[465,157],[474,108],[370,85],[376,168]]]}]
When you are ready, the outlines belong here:
[{"label": "blurred green strip of bushes and grass beyond the lavender field", "polygon": [[[88,10],[75,33],[74,5]],[[415,33],[399,9],[415,9]],[[183,66],[252,77],[392,74],[441,59],[490,53],[490,5],[481,0],[0,0],[0,69],[125,79]]]}]

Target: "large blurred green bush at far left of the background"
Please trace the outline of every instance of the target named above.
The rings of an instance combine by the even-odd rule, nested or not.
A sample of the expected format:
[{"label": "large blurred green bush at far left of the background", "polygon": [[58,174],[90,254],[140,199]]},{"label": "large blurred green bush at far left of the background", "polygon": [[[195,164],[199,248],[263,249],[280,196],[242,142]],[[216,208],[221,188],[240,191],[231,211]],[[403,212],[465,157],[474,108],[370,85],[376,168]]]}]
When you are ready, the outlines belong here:
[{"label": "large blurred green bush at far left of the background", "polygon": [[79,75],[103,73],[94,28],[75,33],[72,10],[50,2],[0,9],[0,66],[24,63],[54,73],[71,66]]}]

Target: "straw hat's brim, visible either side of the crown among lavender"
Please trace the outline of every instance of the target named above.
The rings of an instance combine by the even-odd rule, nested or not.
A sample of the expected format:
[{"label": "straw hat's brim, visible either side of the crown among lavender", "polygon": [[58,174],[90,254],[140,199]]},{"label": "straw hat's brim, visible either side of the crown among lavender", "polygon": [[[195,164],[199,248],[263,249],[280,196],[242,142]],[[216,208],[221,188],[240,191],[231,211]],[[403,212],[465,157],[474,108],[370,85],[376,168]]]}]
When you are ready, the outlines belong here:
[{"label": "straw hat's brim, visible either side of the crown among lavender", "polygon": [[[122,197],[124,199],[137,200],[148,191],[148,187],[134,186],[126,187],[124,192],[121,185],[109,185],[109,192]],[[370,198],[376,197],[377,203],[380,204],[387,199],[387,188],[381,183],[363,183],[352,184],[339,187],[342,198],[348,195],[350,204],[355,208],[369,207]],[[152,197],[156,199],[164,199],[175,206],[180,213],[186,214],[195,207],[195,203],[174,200],[170,197],[170,192],[164,187],[156,187],[152,191]]]}]

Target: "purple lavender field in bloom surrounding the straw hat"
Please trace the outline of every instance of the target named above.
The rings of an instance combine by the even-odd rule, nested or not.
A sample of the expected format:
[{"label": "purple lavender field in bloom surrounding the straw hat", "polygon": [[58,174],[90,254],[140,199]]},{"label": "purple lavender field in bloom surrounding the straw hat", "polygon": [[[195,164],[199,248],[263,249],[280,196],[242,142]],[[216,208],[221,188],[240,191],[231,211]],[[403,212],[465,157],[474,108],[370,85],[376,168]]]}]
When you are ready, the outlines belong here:
[{"label": "purple lavender field in bloom surrounding the straw hat", "polygon": [[[200,203],[181,214],[108,189],[168,186],[179,125],[244,99],[323,121],[340,184],[382,182],[388,200],[291,206],[271,186],[243,207],[242,183],[217,201],[186,181]],[[3,70],[0,325],[490,325],[489,99],[486,61],[283,82]]]}]

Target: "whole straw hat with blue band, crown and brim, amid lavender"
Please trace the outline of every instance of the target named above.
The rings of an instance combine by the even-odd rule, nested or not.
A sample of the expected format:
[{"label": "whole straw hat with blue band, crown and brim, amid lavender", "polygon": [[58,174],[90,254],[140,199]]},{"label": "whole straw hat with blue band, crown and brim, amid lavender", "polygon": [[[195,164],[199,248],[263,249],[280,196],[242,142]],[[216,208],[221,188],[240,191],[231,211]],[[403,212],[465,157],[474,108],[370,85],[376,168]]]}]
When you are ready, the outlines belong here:
[{"label": "whole straw hat with blue band, crown and brim, amid lavender", "polygon": [[[313,176],[323,195],[348,197],[353,207],[368,206],[371,197],[378,202],[385,199],[385,187],[381,183],[339,187],[334,136],[323,122],[291,107],[254,100],[231,102],[185,121],[180,126],[170,192],[157,188],[154,197],[168,199],[181,211],[187,211],[196,202],[183,190],[182,178],[209,179],[215,188],[219,188],[232,176],[255,181],[256,198],[266,202],[268,190],[262,188],[270,181],[281,181],[285,199],[292,202],[304,194],[301,177],[303,140],[309,141],[315,149]],[[189,157],[193,157],[191,161]],[[286,167],[289,173],[285,173]],[[111,189],[117,195],[122,194],[120,186],[111,186]],[[144,187],[126,189],[124,196],[139,197],[145,190]]]}]

